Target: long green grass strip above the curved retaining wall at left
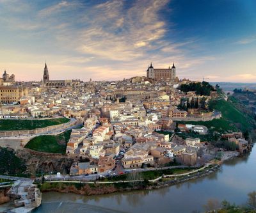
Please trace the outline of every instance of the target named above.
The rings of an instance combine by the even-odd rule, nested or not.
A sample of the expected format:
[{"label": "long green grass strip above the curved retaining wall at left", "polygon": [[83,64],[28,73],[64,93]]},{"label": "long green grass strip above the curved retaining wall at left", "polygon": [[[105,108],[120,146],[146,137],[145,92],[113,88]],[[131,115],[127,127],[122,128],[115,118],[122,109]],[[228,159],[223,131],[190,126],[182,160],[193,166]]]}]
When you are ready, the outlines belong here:
[{"label": "long green grass strip above the curved retaining wall at left", "polygon": [[67,123],[68,118],[52,118],[45,120],[19,120],[19,119],[2,119],[0,120],[0,130],[28,130],[42,127],[48,127],[61,123]]}]

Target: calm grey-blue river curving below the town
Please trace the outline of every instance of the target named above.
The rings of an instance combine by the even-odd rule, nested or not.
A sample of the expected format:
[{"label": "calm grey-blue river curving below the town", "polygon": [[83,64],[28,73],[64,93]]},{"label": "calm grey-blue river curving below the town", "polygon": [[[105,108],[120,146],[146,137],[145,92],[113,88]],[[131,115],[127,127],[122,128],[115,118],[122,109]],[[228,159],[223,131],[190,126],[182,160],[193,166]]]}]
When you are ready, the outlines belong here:
[{"label": "calm grey-blue river curving below the town", "polygon": [[207,177],[162,189],[98,196],[43,193],[42,205],[33,213],[202,212],[210,199],[242,204],[253,190],[256,191],[256,146],[250,154],[225,162]]}]

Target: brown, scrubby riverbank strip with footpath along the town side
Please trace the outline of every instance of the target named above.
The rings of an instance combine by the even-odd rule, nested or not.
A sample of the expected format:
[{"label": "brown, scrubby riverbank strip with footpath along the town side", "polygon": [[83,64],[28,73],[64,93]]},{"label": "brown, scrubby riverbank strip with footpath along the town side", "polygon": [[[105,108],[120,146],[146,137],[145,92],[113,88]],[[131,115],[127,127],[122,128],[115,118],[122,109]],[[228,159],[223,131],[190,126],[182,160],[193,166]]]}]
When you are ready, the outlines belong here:
[{"label": "brown, scrubby riverbank strip with footpath along the town side", "polygon": [[38,188],[42,193],[55,191],[59,193],[75,193],[82,195],[99,195],[134,190],[151,190],[205,177],[219,168],[219,164],[211,164],[207,167],[200,168],[195,171],[189,171],[188,173],[183,174],[164,175],[163,173],[161,177],[152,180],[145,178],[143,180],[120,180],[113,182],[45,182],[44,184],[38,184]]}]

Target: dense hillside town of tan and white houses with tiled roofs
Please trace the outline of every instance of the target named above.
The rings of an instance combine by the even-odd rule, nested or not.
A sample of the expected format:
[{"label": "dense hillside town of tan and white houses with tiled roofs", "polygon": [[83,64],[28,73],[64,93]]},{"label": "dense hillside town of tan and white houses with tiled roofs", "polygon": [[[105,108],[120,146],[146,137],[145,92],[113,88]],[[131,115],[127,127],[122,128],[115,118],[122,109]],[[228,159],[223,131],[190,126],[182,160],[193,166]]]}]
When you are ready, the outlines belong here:
[{"label": "dense hillside town of tan and white houses with tiled roofs", "polygon": [[[177,79],[176,79],[177,80]],[[141,166],[159,166],[173,161],[193,166],[198,162],[199,150],[207,144],[199,138],[180,139],[180,132],[207,134],[203,125],[177,121],[198,121],[220,118],[221,114],[201,109],[178,109],[182,100],[205,103],[216,97],[186,93],[178,90],[180,84],[190,81],[170,79],[153,81],[147,77],[133,77],[115,82],[93,82],[61,86],[62,84],[24,83],[28,94],[19,102],[3,104],[0,118],[41,118],[64,116],[83,122],[81,129],[72,129],[66,154],[88,158],[72,166],[72,174],[106,172],[115,168],[116,156],[125,150],[121,159],[125,169]],[[186,122],[188,123],[188,122]],[[248,148],[243,136],[227,134],[229,141],[239,146],[240,152]]]}]

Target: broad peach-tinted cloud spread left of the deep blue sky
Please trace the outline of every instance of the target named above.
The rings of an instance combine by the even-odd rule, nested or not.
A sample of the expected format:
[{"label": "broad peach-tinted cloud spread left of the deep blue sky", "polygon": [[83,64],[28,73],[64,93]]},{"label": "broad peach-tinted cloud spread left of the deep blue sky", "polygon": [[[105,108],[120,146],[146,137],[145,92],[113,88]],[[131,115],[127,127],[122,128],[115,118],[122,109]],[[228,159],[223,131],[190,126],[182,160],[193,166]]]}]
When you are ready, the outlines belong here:
[{"label": "broad peach-tinted cloud spread left of the deep blue sky", "polygon": [[[28,66],[29,77],[41,79],[42,68],[38,63],[42,61],[43,67],[45,59],[52,77],[61,74],[64,78],[73,75],[81,79],[145,75],[150,61],[154,67],[163,68],[175,62],[178,74],[188,75],[197,65],[214,59],[189,56],[188,47],[195,43],[195,38],[177,42],[170,36],[174,24],[161,16],[169,0],[113,0],[100,4],[78,0],[50,4],[0,1],[0,24],[16,42],[3,42],[8,49],[0,51],[0,63],[6,68],[10,66],[14,73],[17,64],[23,66],[18,69],[24,72],[19,74],[22,77],[31,63],[35,65]],[[4,56],[4,52],[10,57]]]}]

